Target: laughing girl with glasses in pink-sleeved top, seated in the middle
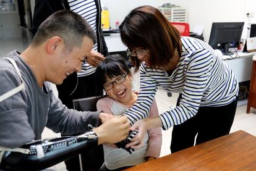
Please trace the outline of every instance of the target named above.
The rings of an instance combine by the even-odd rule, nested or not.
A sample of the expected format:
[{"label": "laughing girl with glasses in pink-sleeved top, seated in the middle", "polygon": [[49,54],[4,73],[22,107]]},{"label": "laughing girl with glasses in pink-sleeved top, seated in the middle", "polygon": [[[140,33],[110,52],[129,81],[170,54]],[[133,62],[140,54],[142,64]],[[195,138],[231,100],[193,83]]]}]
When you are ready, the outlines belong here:
[{"label": "laughing girl with glasses in pink-sleeved top, seated in the middle", "polygon": [[[138,92],[132,91],[132,74],[126,60],[120,56],[109,56],[96,69],[97,81],[108,97],[97,102],[97,110],[108,114],[121,115],[137,101]],[[150,117],[158,116],[155,100],[150,108]],[[143,137],[143,145],[129,154],[125,149],[104,145],[107,170],[124,169],[142,162],[158,158],[161,151],[161,128],[148,130]]]}]

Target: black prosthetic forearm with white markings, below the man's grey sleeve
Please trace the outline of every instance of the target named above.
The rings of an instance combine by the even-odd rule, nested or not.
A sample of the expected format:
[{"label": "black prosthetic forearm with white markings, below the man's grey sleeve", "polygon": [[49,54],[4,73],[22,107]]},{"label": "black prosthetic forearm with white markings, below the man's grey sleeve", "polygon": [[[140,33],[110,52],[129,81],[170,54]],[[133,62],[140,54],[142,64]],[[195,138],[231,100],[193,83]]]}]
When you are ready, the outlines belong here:
[{"label": "black prosthetic forearm with white markings, below the man's grey sleeve", "polygon": [[[94,131],[80,136],[62,136],[23,145],[23,152],[3,152],[0,170],[42,170],[73,157],[82,149],[98,145]],[[27,153],[27,154],[25,154]]]}]

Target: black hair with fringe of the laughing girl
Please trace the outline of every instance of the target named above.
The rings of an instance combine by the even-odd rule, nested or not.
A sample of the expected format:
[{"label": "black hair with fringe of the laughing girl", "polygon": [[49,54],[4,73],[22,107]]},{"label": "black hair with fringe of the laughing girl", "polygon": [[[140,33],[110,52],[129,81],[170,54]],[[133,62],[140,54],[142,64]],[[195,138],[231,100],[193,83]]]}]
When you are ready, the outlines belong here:
[{"label": "black hair with fringe of the laughing girl", "polygon": [[114,78],[120,75],[130,74],[126,59],[114,54],[107,56],[105,60],[100,62],[95,71],[95,81],[100,87],[106,83],[107,78]]}]

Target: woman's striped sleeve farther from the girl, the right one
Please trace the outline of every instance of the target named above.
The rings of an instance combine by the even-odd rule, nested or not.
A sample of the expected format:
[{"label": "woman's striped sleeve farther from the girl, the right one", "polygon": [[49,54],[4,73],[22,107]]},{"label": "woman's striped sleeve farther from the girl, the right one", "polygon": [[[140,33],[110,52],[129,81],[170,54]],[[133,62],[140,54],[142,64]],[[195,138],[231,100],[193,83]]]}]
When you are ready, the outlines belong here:
[{"label": "woman's striped sleeve farther from the girl, the right one", "polygon": [[179,106],[160,115],[164,130],[179,125],[197,114],[208,84],[212,63],[213,56],[207,49],[200,49],[191,54],[187,72],[184,73],[186,78]]}]

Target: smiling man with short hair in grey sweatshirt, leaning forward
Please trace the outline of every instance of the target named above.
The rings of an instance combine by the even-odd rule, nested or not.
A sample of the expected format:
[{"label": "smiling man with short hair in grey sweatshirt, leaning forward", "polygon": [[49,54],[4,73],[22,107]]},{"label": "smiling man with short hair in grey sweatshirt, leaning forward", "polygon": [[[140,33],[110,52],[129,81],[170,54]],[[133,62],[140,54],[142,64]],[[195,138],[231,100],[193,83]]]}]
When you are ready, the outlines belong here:
[{"label": "smiling man with short hair in grey sweatshirt, leaning forward", "polygon": [[[80,15],[60,10],[40,25],[25,51],[12,51],[7,56],[17,64],[21,77],[9,59],[0,59],[0,146],[17,148],[38,140],[45,126],[72,135],[89,130],[88,125],[103,123],[93,128],[98,144],[116,143],[127,137],[126,117],[110,119],[112,115],[102,112],[67,109],[49,85],[59,85],[79,72],[94,43],[95,33]],[[23,84],[25,89],[6,97]]]}]

